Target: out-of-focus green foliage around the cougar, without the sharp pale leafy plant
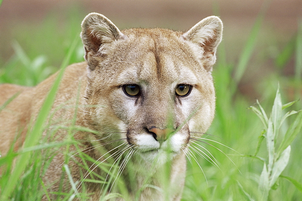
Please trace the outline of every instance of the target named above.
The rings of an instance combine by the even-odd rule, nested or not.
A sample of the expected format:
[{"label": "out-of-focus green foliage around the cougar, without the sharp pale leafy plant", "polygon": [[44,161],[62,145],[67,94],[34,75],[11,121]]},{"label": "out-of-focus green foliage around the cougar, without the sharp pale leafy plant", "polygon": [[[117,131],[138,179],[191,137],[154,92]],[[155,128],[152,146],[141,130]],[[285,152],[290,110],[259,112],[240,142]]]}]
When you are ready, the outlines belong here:
[{"label": "out-of-focus green foliage around the cougar, without the sharp pale leafy plant", "polygon": [[[0,58],[0,83],[34,86],[56,72],[58,70],[57,66],[70,51],[69,46],[72,40],[79,36],[81,31],[82,14],[76,15],[75,13],[77,12],[78,10],[70,11],[71,14],[64,23],[61,22],[58,16],[49,15],[41,24],[18,24],[14,28],[14,38],[16,39],[12,45],[14,55],[7,62]],[[247,101],[246,96],[238,90],[240,80],[246,73],[249,60],[253,54],[254,45],[257,43],[256,38],[260,29],[261,18],[262,16],[255,22],[255,26],[252,28],[249,39],[243,48],[243,53],[238,58],[238,64],[227,63],[227,53],[223,44],[225,41],[223,41],[218,49],[217,64],[214,66],[213,71],[217,94],[216,117],[207,133],[221,139],[214,136],[207,136],[207,138],[227,145],[241,153],[241,155],[217,143],[211,143],[213,146],[201,143],[218,161],[219,168],[201,156],[195,155],[197,160],[192,160],[187,165],[188,171],[183,200],[263,199],[262,192],[259,190],[259,179],[265,165],[263,160],[267,156],[268,149],[268,145],[259,143],[264,139],[264,132],[262,132],[264,129],[262,126],[263,121],[261,123],[261,120],[255,114],[247,110],[250,103]],[[301,98],[301,27],[300,25],[298,33],[288,41],[286,46],[279,47],[283,50],[274,59],[275,67],[279,70],[267,76],[257,86],[260,89],[258,91],[263,92],[261,94],[262,100],[260,101],[264,108],[263,111],[273,107],[278,83],[280,83],[280,93],[285,100],[284,102]],[[35,30],[34,34],[31,30]],[[83,47],[79,42],[80,38],[78,37],[77,40],[78,43],[74,48],[75,50],[71,52],[69,64],[84,60]],[[292,58],[296,60],[295,75],[282,75],[282,70]],[[300,110],[301,105],[301,101],[298,101],[292,108],[293,110]],[[286,112],[289,111],[285,109],[282,114],[286,114]],[[263,118],[265,119],[265,117]],[[295,122],[296,118],[300,117],[294,114],[284,120],[280,126],[281,134],[278,135],[279,144],[277,146],[280,145],[280,142],[289,139],[285,133],[288,129],[291,129],[290,125]],[[265,129],[268,129],[268,127]],[[281,174],[281,179],[277,179],[274,187],[270,186],[270,189],[275,189],[269,190],[268,199],[270,200],[299,200],[302,197],[302,169],[300,168],[302,161],[300,152],[301,132],[298,132],[296,137],[290,139],[290,141],[291,150],[288,164]],[[284,148],[287,148],[289,144],[286,145]],[[220,150],[226,153],[233,161]],[[255,152],[257,155],[254,154]],[[36,152],[32,156],[37,158],[37,160],[29,161],[30,164],[34,164],[32,167],[41,168],[43,157],[37,156]],[[12,157],[14,156],[12,155]],[[6,161],[4,160],[11,161],[12,159],[2,158],[0,165],[5,164]],[[204,178],[199,166],[201,166],[206,178]],[[64,168],[66,174],[68,174],[68,167],[64,166]],[[31,198],[40,199],[43,193],[46,192],[46,187],[43,186],[42,181],[38,180],[35,171],[31,170],[31,172],[27,172],[26,176],[22,176],[17,184],[18,186],[24,183],[26,187],[29,185],[31,187],[15,189],[14,194],[10,197],[15,197],[18,200],[22,194],[30,194]],[[6,176],[0,178],[0,184],[4,185],[9,180],[10,175],[6,174]],[[37,182],[27,182],[31,180],[37,180]],[[106,185],[106,187],[109,188],[109,185]],[[29,192],[28,189],[36,192]],[[120,187],[120,189],[122,188]],[[68,199],[73,197],[74,194],[70,193],[64,196]],[[81,196],[85,197],[86,195],[81,194]],[[112,197],[114,196],[118,195],[112,194]]]}]

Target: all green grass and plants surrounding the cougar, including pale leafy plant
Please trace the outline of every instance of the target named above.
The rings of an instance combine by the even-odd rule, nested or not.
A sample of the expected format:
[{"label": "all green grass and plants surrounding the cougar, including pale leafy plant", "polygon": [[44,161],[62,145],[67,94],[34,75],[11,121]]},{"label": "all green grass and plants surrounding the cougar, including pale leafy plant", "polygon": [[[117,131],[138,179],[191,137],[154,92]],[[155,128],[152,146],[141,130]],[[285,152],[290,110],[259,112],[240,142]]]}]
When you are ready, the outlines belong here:
[{"label": "all green grass and plants surrounding the cougar, including pale leafy plant", "polygon": [[[220,169],[195,154],[196,161],[192,159],[187,164],[188,170],[182,196],[183,200],[299,200],[302,197],[302,169],[300,167],[302,161],[300,151],[302,113],[297,112],[297,114],[292,111],[301,110],[302,104],[301,101],[297,101],[291,106],[290,104],[284,104],[301,99],[302,24],[300,24],[300,29],[293,39],[288,41],[286,46],[280,47],[284,51],[280,51],[275,56],[274,63],[279,70],[259,83],[259,88],[264,91],[261,94],[261,105],[255,100],[254,105],[249,107],[251,103],[238,91],[238,83],[246,73],[255,43],[257,43],[256,37],[261,25],[260,19],[261,16],[252,28],[249,39],[243,48],[243,53],[238,58],[238,64],[227,63],[227,52],[222,43],[218,50],[218,60],[213,71],[217,94],[216,116],[207,133],[217,137],[209,136],[208,139],[222,143],[236,150],[236,152],[216,142],[211,142],[216,148],[202,144],[216,158]],[[65,34],[61,34],[61,31],[57,28],[58,23],[55,16],[49,16],[42,24],[38,25],[37,33],[47,32],[49,36],[47,39],[42,38],[39,34],[32,36],[29,29],[33,25],[29,25],[28,28],[22,26],[22,35],[17,34],[15,37],[16,41],[23,42],[13,43],[14,56],[5,63],[0,58],[0,65],[2,66],[0,69],[0,83],[34,86],[55,72],[57,68],[54,66],[58,66],[62,61],[64,62],[61,69],[64,69],[67,64],[83,60],[82,45],[79,38],[76,39],[72,47],[69,47],[72,44],[72,39],[79,36],[81,18],[68,19],[68,23],[63,26],[63,29],[66,30]],[[26,39],[26,42],[23,39]],[[34,44],[33,41],[35,41]],[[41,46],[47,46],[45,55],[40,53]],[[283,76],[280,73],[281,70],[293,57],[296,60],[295,75]],[[59,83],[59,79],[58,77],[56,84]],[[278,89],[278,83],[280,89]],[[50,93],[55,93],[56,88],[57,85],[54,85],[53,91]],[[288,93],[288,88],[293,89],[294,96]],[[281,101],[281,97],[283,101]],[[51,94],[47,100],[49,102],[45,103],[45,107],[40,112],[43,120],[51,115],[49,113],[49,107],[53,102]],[[0,106],[0,111],[3,108],[5,106]],[[248,110],[248,108],[252,110]],[[288,116],[288,118],[282,121],[283,116]],[[2,200],[40,200],[43,194],[47,193],[48,186],[45,186],[42,182],[40,175],[45,174],[45,170],[54,156],[54,151],[58,150],[59,147],[64,147],[66,158],[69,158],[72,153],[68,153],[68,147],[75,143],[73,141],[74,133],[85,129],[72,126],[66,128],[69,130],[69,141],[61,144],[39,141],[43,130],[46,130],[51,136],[60,126],[62,125],[58,125],[57,128],[47,127],[47,124],[35,123],[31,132],[27,135],[27,142],[29,143],[26,143],[24,148],[28,149],[18,153],[11,150],[7,156],[0,158],[0,166],[5,170],[0,177]],[[271,140],[273,140],[273,143]],[[75,146],[77,147],[76,144]],[[80,150],[79,147],[77,149]],[[17,156],[19,156],[19,159],[17,158],[16,163],[20,165],[17,166],[18,168],[11,170],[13,159]],[[20,162],[21,156],[23,157],[23,163]],[[89,169],[89,163],[95,162],[85,153],[79,154],[78,157],[83,161],[84,170]],[[48,159],[45,160],[45,158]],[[69,160],[73,160],[73,158]],[[109,161],[109,164],[100,164],[100,168],[109,173],[110,163],[113,163],[113,161]],[[64,174],[69,175],[67,165],[62,165],[62,169]],[[163,174],[169,172],[168,166],[164,169]],[[111,180],[115,178],[114,175],[117,171],[117,165],[114,165],[110,171]],[[84,177],[85,172],[80,174]],[[94,174],[93,178],[104,180],[97,174]],[[93,178],[91,181],[95,181]],[[163,177],[163,180],[165,180],[165,177]],[[73,182],[70,179],[71,191],[62,194],[60,198],[64,200],[72,199],[74,196],[80,196],[82,199],[87,198],[85,192],[78,193],[76,191],[77,183]],[[146,187],[153,186],[148,186],[148,183],[146,183]],[[83,188],[85,190],[85,183]],[[104,183],[104,189],[108,188],[110,188],[110,182]],[[123,178],[120,178],[117,183],[117,189],[122,195],[117,193],[103,194],[103,199],[116,196],[124,196],[127,199],[128,195]],[[57,193],[60,194],[60,192]]]}]

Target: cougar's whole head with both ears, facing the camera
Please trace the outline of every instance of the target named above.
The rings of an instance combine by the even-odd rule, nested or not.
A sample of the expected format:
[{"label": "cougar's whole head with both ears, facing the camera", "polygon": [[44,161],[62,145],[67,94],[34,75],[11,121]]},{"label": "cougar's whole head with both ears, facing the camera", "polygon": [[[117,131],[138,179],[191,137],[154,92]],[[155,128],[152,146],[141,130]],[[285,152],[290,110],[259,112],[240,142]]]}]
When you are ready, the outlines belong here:
[{"label": "cougar's whole head with both ears, facing the camera", "polygon": [[92,127],[111,133],[108,141],[125,139],[146,159],[159,149],[181,152],[213,120],[211,70],[221,32],[217,17],[181,33],[120,31],[104,16],[88,15],[81,35],[90,68],[87,99],[100,106],[87,108]]}]

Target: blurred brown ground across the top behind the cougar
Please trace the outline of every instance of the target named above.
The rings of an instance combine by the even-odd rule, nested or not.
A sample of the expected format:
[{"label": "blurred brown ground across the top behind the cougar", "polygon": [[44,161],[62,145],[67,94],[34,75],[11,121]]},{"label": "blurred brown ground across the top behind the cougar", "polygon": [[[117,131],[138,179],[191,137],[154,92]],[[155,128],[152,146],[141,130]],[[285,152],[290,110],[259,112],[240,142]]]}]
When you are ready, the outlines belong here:
[{"label": "blurred brown ground across the top behind the cougar", "polygon": [[[77,7],[81,10],[79,15],[82,18],[90,12],[98,12],[108,17],[120,29],[165,27],[187,30],[207,16],[219,15],[224,24],[223,40],[227,61],[236,64],[255,18],[265,5],[268,7],[258,36],[255,56],[249,63],[248,75],[245,74],[241,83],[243,92],[252,93],[249,83],[259,81],[268,71],[274,71],[275,66],[270,59],[273,57],[271,51],[281,51],[297,32],[298,21],[301,22],[302,19],[301,0],[4,0],[0,7],[0,56],[6,61],[13,54],[13,39],[9,34],[12,24],[23,21],[39,23],[50,12],[64,19],[69,8]],[[7,34],[3,34],[4,32]],[[267,58],[264,62],[263,57]],[[294,59],[283,73],[293,74],[293,66]]]}]

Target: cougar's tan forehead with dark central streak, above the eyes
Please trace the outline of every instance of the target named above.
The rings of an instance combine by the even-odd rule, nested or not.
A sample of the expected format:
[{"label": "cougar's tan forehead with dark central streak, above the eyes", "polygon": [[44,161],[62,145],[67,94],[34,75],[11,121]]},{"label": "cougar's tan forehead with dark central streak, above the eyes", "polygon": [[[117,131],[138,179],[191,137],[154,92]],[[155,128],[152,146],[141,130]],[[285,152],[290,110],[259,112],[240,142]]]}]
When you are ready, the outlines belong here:
[{"label": "cougar's tan forehead with dark central streak, above the eyes", "polygon": [[165,29],[130,29],[123,32],[127,39],[120,47],[127,49],[127,52],[120,57],[123,59],[120,61],[123,62],[123,68],[119,71],[120,84],[197,84],[194,74],[198,62],[181,33]]}]

